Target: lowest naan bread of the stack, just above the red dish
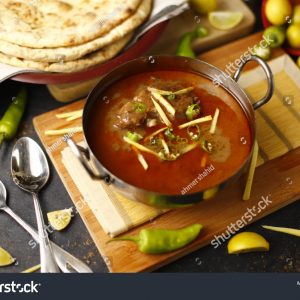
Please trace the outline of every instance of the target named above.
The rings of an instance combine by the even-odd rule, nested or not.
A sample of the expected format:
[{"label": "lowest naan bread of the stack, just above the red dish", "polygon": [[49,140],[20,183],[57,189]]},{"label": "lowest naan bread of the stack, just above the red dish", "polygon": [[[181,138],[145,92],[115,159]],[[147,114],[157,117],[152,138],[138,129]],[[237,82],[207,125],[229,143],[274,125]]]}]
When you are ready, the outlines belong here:
[{"label": "lowest naan bread of the stack, just above the red dish", "polygon": [[97,64],[103,63],[115,55],[117,55],[131,39],[132,34],[129,34],[122,38],[121,40],[101,49],[87,56],[80,58],[75,61],[61,61],[56,63],[46,63],[46,62],[36,62],[31,60],[20,59],[16,57],[7,56],[3,53],[0,53],[0,62],[13,65],[16,67],[22,68],[32,68],[36,70],[42,70],[47,72],[79,72],[90,67],[93,67]]}]

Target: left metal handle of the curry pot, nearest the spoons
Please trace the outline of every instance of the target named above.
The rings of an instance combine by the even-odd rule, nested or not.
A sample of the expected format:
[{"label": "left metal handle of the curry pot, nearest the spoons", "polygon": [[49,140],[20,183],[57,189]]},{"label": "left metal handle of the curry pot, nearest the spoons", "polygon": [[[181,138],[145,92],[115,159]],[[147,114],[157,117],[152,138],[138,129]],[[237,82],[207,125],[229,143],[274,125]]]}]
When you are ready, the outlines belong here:
[{"label": "left metal handle of the curry pot, nearest the spoons", "polygon": [[84,167],[84,169],[87,171],[87,173],[91,176],[92,179],[104,180],[107,184],[111,183],[111,178],[109,175],[101,175],[94,170],[94,168],[91,165],[91,157],[88,149],[77,145],[72,140],[72,138],[67,138],[66,142],[69,145],[73,154],[77,157],[81,165]]}]

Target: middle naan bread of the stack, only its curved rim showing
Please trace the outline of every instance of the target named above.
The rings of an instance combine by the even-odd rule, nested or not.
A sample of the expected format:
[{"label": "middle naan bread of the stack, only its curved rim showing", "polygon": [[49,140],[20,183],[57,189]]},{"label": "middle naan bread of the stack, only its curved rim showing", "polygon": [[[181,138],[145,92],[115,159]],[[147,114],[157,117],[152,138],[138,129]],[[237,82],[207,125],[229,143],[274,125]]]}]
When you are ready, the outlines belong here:
[{"label": "middle naan bread of the stack, only its curved rim showing", "polygon": [[112,29],[109,33],[86,44],[73,47],[59,47],[53,49],[33,49],[18,46],[0,40],[0,52],[9,56],[24,58],[38,62],[72,61],[79,59],[91,52],[99,50],[109,44],[120,40],[140,26],[149,16],[152,8],[152,0],[143,0],[137,11],[122,24]]}]

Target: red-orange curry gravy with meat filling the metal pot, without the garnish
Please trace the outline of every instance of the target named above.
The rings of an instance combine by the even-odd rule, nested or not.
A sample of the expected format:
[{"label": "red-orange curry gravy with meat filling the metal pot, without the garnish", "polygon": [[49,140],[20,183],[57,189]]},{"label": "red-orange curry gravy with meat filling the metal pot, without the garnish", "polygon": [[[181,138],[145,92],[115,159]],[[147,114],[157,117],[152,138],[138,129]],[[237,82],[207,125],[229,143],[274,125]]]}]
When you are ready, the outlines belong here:
[{"label": "red-orange curry gravy with meat filling the metal pot, without the garnish", "polygon": [[[235,99],[221,87],[213,87],[222,89],[224,95],[226,93],[226,97],[221,99],[205,89],[205,84],[212,86],[208,79],[179,71],[142,73],[115,83],[90,112],[88,140],[93,153],[112,174],[149,191],[174,195],[183,193],[184,188],[189,186],[187,193],[194,193],[222,183],[236,173],[249,156],[251,132],[247,117]],[[174,143],[177,143],[169,140],[164,133],[155,137],[155,141],[152,139],[148,143],[143,142],[149,134],[166,126],[153,106],[152,94],[147,87],[172,92],[193,87],[189,93],[175,98],[163,96],[176,109],[175,118],[172,119],[164,106],[160,106],[169,119],[172,119],[172,134],[176,136],[176,141],[180,140],[186,145],[199,143],[199,146],[176,160],[162,160],[150,153],[136,151],[135,147],[124,141],[124,136],[131,132],[136,133],[141,138],[137,142],[146,147],[151,148],[154,145],[151,143],[156,142],[154,151],[165,151],[160,138],[167,142],[171,150]],[[194,119],[208,115],[213,117],[216,109],[219,109],[214,134],[209,133],[211,121],[198,124],[200,134],[196,127],[189,128],[195,136],[200,136],[202,142],[209,143],[211,152],[200,146],[200,140],[191,140],[187,128],[178,129],[178,125],[188,122],[184,112],[195,103],[200,108],[200,113]],[[137,111],[134,110],[135,107],[138,108]],[[147,115],[143,111],[145,108]],[[143,113],[143,116],[139,113]],[[174,147],[176,152],[177,144]],[[143,155],[148,165],[147,170],[137,159],[137,153]],[[205,170],[206,175],[191,186],[199,178],[199,174],[205,174]]]}]

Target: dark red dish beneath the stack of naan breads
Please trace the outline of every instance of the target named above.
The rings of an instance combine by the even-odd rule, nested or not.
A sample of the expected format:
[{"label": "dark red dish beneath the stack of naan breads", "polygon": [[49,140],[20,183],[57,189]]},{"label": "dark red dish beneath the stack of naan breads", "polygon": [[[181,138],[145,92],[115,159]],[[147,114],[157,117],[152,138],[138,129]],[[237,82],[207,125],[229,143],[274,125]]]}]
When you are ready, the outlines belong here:
[{"label": "dark red dish beneath the stack of naan breads", "polygon": [[132,47],[122,52],[106,63],[99,64],[93,68],[76,73],[26,73],[13,77],[13,80],[36,83],[36,84],[64,84],[79,81],[87,81],[92,78],[101,77],[122,63],[137,58],[144,54],[160,37],[167,25],[167,21],[160,23],[149,30]]}]

